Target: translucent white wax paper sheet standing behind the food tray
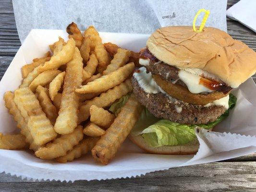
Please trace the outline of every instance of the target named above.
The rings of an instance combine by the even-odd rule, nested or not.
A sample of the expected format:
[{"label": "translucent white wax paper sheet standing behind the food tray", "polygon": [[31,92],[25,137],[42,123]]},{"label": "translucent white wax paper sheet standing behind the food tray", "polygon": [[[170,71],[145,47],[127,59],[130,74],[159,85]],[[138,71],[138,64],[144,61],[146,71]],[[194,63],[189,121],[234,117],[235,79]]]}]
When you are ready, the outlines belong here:
[{"label": "translucent white wax paper sheet standing behind the food tray", "polygon": [[227,0],[12,0],[12,4],[22,43],[31,29],[63,30],[72,21],[81,30],[94,25],[104,32],[151,34],[161,26],[192,25],[202,8],[211,11],[206,26],[227,30]]}]

